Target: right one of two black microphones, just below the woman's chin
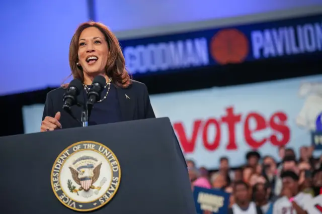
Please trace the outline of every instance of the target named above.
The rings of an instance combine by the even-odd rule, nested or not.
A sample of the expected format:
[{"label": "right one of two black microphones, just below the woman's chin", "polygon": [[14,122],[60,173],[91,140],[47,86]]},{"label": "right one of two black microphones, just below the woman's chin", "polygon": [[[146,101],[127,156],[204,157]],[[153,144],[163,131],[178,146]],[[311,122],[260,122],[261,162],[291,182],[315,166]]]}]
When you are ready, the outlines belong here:
[{"label": "right one of two black microphones, just below the woman's chin", "polygon": [[106,84],[106,79],[104,76],[98,75],[94,78],[91,89],[89,90],[87,96],[87,106],[89,108],[93,107],[94,103],[100,100],[101,93],[104,90],[104,86]]}]

